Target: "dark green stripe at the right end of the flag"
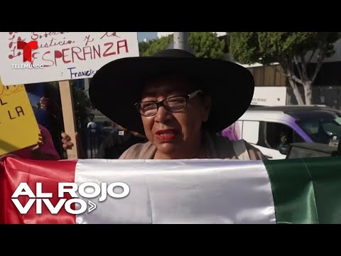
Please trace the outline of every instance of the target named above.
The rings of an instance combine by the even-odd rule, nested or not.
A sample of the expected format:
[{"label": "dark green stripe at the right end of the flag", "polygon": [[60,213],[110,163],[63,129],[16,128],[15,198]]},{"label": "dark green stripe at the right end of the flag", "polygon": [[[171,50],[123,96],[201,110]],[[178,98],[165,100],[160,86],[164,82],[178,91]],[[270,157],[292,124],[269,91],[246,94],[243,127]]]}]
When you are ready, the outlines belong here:
[{"label": "dark green stripe at the right end of the flag", "polygon": [[277,223],[341,223],[341,157],[264,164]]}]

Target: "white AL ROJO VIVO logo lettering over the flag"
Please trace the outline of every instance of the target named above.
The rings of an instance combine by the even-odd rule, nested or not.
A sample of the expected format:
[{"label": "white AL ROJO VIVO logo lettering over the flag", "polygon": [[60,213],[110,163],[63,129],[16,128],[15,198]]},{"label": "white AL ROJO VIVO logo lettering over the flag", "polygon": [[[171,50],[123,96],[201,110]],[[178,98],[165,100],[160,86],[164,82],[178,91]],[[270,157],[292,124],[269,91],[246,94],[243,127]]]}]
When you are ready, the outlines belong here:
[{"label": "white AL ROJO VIVO logo lettering over the flag", "polygon": [[[121,191],[121,193],[115,192],[114,189],[117,187],[120,187],[123,191]],[[33,191],[36,191],[36,194],[33,193]],[[37,182],[36,188],[32,190],[30,186],[28,186],[28,183],[22,182],[19,184],[18,188],[16,188],[16,191],[14,191],[11,200],[21,214],[28,213],[28,210],[32,208],[33,203],[36,203],[36,214],[42,214],[43,204],[48,208],[51,214],[58,214],[63,206],[67,213],[81,214],[85,213],[87,210],[88,213],[90,213],[97,206],[90,200],[87,200],[86,202],[79,198],[77,193],[82,196],[82,198],[96,198],[100,195],[99,202],[102,202],[107,199],[108,195],[112,198],[125,198],[129,195],[129,192],[129,186],[123,182],[114,182],[109,185],[107,183],[98,184],[94,182],[85,182],[81,183],[80,186],[78,186],[77,183],[60,182],[58,183],[59,200],[57,200],[57,204],[54,203],[55,206],[53,206],[51,201],[56,202],[55,199],[58,198],[53,196],[52,192],[43,192],[42,183]],[[28,201],[19,200],[20,196],[28,196],[29,199]],[[67,199],[67,197],[70,199]],[[50,200],[50,198],[53,199]],[[72,206],[72,204],[75,203],[79,205],[77,209]],[[89,208],[87,208],[87,203],[90,206]]]}]

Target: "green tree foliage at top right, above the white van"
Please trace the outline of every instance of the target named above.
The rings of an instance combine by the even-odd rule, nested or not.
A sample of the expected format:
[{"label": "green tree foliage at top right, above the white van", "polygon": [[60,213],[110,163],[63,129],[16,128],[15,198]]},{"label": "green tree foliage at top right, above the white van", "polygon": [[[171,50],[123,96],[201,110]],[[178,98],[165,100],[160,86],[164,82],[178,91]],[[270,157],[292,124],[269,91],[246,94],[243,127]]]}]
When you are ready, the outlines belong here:
[{"label": "green tree foliage at top right, above the white van", "polygon": [[230,52],[239,63],[290,63],[309,51],[319,51],[319,58],[335,53],[333,43],[338,32],[230,32]]}]

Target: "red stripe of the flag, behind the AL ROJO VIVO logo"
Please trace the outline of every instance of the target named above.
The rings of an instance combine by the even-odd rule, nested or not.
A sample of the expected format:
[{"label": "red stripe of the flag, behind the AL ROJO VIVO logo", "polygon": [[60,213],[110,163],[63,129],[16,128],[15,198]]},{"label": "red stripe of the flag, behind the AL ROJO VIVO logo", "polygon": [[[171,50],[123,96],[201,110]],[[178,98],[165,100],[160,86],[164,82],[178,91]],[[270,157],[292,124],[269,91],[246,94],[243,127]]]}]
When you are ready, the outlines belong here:
[{"label": "red stripe of the flag, behind the AL ROJO VIVO logo", "polygon": [[[53,193],[53,198],[49,199],[55,206],[60,200],[58,198],[58,183],[75,181],[76,164],[77,161],[36,161],[6,157],[0,163],[0,223],[75,224],[76,215],[67,213],[64,207],[58,214],[51,214],[44,203],[42,203],[42,214],[36,214],[35,202],[28,213],[22,215],[11,201],[11,196],[21,182],[28,183],[36,195],[36,183],[41,182],[44,193]],[[67,193],[65,198],[68,200],[71,196]],[[28,196],[18,197],[22,206],[25,206],[28,199]]]}]

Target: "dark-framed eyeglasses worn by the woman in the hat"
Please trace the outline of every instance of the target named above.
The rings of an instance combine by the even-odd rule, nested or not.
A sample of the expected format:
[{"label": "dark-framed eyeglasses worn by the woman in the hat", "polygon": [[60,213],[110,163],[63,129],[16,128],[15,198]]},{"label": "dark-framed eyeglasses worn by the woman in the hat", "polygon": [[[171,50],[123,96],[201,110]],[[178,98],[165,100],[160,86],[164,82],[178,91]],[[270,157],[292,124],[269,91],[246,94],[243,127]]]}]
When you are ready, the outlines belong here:
[{"label": "dark-framed eyeglasses worn by the woman in the hat", "polygon": [[135,104],[137,110],[145,117],[151,117],[158,112],[159,107],[164,107],[169,112],[180,112],[185,110],[187,102],[193,99],[202,90],[196,90],[186,96],[171,96],[161,101],[148,100],[144,102],[137,102]]}]

